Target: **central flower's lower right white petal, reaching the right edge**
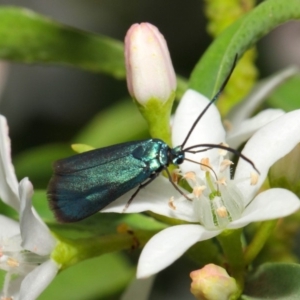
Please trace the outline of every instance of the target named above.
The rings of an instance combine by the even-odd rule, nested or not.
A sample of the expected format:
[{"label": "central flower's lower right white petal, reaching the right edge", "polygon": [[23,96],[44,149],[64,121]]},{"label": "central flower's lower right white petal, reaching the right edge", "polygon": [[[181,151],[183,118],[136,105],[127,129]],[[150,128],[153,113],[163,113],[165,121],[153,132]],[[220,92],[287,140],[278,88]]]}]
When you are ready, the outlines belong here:
[{"label": "central flower's lower right white petal, reaching the right edge", "polygon": [[292,192],[274,188],[258,194],[246,207],[242,217],[228,228],[241,228],[252,222],[273,220],[288,216],[300,208],[300,200]]}]

